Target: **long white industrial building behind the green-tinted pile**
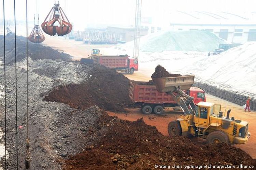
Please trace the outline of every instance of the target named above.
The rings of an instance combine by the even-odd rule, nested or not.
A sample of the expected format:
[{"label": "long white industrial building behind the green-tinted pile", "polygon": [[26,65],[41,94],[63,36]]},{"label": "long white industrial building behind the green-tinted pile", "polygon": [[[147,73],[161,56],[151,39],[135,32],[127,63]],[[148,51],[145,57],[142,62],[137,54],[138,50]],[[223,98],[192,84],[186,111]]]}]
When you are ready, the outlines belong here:
[{"label": "long white industrial building behind the green-tinted pile", "polygon": [[155,18],[142,19],[142,28],[148,33],[160,30],[213,32],[229,43],[244,44],[256,40],[256,12],[231,13],[207,11],[173,11],[169,14],[169,25]]}]

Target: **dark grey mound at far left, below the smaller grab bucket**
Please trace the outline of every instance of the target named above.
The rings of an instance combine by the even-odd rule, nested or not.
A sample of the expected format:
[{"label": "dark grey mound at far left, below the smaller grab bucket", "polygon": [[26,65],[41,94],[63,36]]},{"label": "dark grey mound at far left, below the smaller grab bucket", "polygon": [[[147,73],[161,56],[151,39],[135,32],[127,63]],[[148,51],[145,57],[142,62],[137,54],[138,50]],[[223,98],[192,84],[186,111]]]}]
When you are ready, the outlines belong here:
[{"label": "dark grey mound at far left, below the smaller grab bucket", "polygon": [[[0,35],[0,42],[3,42],[3,36]],[[5,50],[6,50],[6,64],[15,62],[15,39],[14,35],[5,37]],[[3,60],[4,44],[0,44],[0,57]],[[17,62],[26,58],[26,38],[23,36],[16,36],[16,54]],[[28,41],[28,56],[32,60],[39,59],[61,59],[64,61],[71,61],[71,56],[63,52],[58,52],[51,47],[43,46],[42,44],[31,43]]]}]

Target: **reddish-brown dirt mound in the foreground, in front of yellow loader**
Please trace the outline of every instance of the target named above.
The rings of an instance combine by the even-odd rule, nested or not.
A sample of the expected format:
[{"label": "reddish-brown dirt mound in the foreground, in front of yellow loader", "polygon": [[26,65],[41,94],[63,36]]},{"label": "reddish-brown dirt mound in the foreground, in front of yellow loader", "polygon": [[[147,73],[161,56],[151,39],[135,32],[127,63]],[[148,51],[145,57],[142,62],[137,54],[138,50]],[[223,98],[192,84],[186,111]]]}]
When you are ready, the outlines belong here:
[{"label": "reddish-brown dirt mound in the foreground, in front of yellow loader", "polygon": [[197,146],[186,137],[169,138],[143,119],[134,122],[102,115],[102,138],[65,160],[64,169],[154,169],[154,165],[256,165],[241,149],[221,144]]}]

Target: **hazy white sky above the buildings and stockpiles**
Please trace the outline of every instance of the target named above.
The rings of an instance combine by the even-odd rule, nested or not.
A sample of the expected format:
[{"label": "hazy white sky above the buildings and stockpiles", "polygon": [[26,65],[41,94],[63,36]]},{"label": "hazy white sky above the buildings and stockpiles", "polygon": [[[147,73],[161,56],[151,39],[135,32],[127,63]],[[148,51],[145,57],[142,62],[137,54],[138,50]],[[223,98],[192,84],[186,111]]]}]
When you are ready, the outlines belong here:
[{"label": "hazy white sky above the buildings and stockpiles", "polygon": [[[74,30],[83,30],[88,24],[134,24],[136,0],[59,0],[59,3],[74,24]],[[6,19],[14,19],[13,4],[14,0],[5,0]],[[37,6],[40,23],[43,22],[53,5],[54,0],[28,0],[28,20],[33,21]],[[168,22],[170,12],[176,10],[240,14],[256,12],[255,6],[256,0],[142,0],[141,15]],[[0,1],[0,18],[3,18],[3,0]],[[16,19],[26,20],[26,0],[16,0]]]}]

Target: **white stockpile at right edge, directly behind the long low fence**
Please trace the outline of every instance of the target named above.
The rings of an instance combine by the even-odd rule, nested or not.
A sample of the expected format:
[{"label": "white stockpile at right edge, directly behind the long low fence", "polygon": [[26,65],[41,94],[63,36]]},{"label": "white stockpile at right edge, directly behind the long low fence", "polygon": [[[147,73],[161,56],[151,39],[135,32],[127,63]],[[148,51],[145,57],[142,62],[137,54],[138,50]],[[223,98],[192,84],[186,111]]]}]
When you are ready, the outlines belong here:
[{"label": "white stockpile at right edge, directly behind the long low fence", "polygon": [[209,80],[230,90],[256,94],[256,42],[205,57],[184,69],[202,78],[202,82]]}]

